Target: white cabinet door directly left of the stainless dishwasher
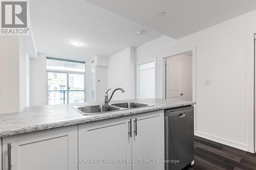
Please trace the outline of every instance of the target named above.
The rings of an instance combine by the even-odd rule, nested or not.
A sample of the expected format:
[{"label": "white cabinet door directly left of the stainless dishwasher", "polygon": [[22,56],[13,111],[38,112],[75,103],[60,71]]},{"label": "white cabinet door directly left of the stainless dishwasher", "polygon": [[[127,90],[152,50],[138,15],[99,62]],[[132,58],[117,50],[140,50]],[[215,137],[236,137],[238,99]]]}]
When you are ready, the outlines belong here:
[{"label": "white cabinet door directly left of the stainless dishwasher", "polygon": [[[136,135],[137,118],[137,135]],[[164,110],[136,114],[133,120],[132,159],[143,163],[133,163],[133,170],[164,170]],[[147,161],[147,162],[146,162]]]}]

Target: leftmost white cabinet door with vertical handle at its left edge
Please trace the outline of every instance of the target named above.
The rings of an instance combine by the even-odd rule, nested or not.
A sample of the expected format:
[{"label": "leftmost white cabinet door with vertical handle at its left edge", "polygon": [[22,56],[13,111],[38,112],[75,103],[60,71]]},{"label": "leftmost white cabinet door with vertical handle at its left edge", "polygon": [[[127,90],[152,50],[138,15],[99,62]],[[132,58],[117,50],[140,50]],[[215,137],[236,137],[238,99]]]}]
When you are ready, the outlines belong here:
[{"label": "leftmost white cabinet door with vertical handle at its left edge", "polygon": [[69,126],[3,138],[3,170],[8,169],[8,143],[11,170],[78,169],[77,133],[77,126]]}]

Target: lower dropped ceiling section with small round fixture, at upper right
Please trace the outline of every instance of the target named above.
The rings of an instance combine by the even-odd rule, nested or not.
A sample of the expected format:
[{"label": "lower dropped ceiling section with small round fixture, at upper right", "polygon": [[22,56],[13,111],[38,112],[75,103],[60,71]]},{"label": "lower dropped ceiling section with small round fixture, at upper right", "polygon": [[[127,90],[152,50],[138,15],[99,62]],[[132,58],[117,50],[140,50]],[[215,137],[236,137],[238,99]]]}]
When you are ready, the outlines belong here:
[{"label": "lower dropped ceiling section with small round fixture, at upper right", "polygon": [[255,0],[86,1],[175,39],[256,9]]}]

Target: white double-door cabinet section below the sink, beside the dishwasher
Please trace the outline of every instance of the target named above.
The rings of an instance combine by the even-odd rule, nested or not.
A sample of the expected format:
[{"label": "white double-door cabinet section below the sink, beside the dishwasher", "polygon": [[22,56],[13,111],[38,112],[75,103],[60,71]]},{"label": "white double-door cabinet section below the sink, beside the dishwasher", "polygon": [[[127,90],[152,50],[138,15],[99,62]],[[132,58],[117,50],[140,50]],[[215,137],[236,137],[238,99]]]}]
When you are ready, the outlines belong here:
[{"label": "white double-door cabinet section below the sink, beside the dishwasher", "polygon": [[[132,132],[131,136],[129,132]],[[78,143],[78,157],[82,161],[79,169],[164,170],[163,163],[153,163],[156,159],[164,159],[164,111],[81,124],[78,126]],[[125,162],[99,162],[113,159]],[[142,159],[143,163],[127,163],[131,159]],[[145,163],[146,160],[151,163]]]}]

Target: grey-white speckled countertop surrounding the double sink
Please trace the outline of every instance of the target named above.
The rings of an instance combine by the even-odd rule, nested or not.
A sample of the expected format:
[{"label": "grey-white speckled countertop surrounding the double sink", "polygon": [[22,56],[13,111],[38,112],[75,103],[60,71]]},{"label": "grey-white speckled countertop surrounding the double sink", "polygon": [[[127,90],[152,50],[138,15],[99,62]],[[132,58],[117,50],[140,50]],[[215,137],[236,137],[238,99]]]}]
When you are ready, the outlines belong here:
[{"label": "grey-white speckled countertop surrounding the double sink", "polygon": [[120,110],[93,115],[82,115],[72,107],[82,105],[103,104],[102,102],[26,107],[21,112],[0,114],[0,137],[7,137],[11,135],[30,133],[70,125],[77,125],[108,118],[127,116],[132,114],[196,104],[195,102],[178,101],[172,99],[139,99],[112,101],[111,103],[119,102],[138,102],[154,106]]}]

